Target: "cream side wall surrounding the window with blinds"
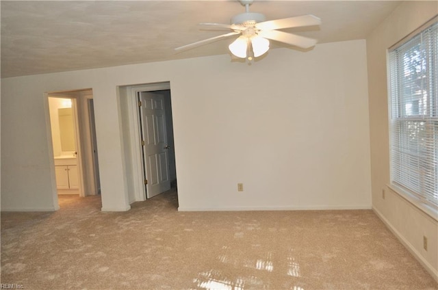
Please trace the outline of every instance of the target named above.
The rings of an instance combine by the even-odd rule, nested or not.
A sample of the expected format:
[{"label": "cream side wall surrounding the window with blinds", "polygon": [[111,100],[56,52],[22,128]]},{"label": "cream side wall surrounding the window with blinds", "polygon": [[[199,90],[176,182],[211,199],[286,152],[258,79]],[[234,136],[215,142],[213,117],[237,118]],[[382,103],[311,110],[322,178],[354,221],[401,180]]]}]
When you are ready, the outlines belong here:
[{"label": "cream side wall surrounding the window with blinds", "polygon": [[[367,38],[372,207],[438,280],[438,217],[430,218],[396,194],[389,184],[386,50],[437,14],[436,1],[406,1]],[[385,189],[385,199],[382,198]],[[428,251],[423,249],[428,237]]]}]

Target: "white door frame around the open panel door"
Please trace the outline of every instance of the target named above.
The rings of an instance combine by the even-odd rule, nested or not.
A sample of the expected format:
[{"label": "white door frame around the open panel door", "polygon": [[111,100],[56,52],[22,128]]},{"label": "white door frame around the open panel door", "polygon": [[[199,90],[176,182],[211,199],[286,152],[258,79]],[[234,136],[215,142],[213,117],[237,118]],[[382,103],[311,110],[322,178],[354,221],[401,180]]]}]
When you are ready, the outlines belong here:
[{"label": "white door frame around the open panel door", "polygon": [[[140,146],[140,111],[138,109],[138,93],[151,92],[156,90],[170,90],[170,82],[145,83],[142,85],[128,85],[127,88],[127,109],[129,115],[129,143],[131,145],[133,191],[136,201],[146,200],[146,187],[143,176],[143,155]],[[146,173],[147,174],[147,173]]]}]

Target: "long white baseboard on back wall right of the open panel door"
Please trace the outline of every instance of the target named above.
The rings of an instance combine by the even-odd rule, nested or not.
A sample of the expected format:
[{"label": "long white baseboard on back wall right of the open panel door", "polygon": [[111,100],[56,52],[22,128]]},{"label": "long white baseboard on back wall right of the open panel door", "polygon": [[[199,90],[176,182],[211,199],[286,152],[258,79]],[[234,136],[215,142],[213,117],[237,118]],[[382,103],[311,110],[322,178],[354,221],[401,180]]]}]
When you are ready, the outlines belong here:
[{"label": "long white baseboard on back wall right of the open panel door", "polygon": [[178,211],[337,211],[372,209],[368,205],[352,205],[342,207],[315,206],[315,207],[178,207]]}]

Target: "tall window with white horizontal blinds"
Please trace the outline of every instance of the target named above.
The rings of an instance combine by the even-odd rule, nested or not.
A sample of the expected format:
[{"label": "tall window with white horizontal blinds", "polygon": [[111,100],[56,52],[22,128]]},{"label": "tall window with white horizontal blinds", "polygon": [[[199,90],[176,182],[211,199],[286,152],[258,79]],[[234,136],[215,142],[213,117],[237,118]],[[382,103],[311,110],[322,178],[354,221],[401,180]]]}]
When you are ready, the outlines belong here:
[{"label": "tall window with white horizontal blinds", "polygon": [[388,52],[391,183],[438,207],[438,23]]}]

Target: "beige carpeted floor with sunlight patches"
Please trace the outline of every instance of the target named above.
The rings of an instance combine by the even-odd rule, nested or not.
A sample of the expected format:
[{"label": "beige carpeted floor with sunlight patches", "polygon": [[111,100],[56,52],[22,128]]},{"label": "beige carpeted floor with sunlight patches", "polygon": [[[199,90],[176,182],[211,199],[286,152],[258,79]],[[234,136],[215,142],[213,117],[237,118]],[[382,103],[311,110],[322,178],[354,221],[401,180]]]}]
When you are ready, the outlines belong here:
[{"label": "beige carpeted floor with sunlight patches", "polygon": [[[1,283],[23,289],[438,289],[372,211],[131,211],[60,196],[1,213]],[[16,289],[16,288],[14,288]]]}]

